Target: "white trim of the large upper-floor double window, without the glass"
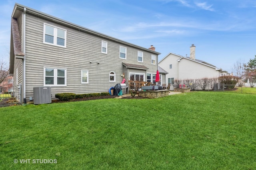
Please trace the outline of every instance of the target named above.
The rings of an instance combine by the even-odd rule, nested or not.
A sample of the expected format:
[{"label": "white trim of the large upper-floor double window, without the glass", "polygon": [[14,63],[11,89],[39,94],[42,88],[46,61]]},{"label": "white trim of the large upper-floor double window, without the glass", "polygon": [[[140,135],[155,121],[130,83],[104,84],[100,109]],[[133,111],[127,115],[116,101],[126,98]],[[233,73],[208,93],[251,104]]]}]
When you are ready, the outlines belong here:
[{"label": "white trim of the large upper-floor double window, without the glass", "polygon": [[[53,30],[53,43],[48,43],[45,41],[45,35],[46,35],[46,25],[50,26],[50,27],[53,27],[54,30]],[[58,33],[58,29],[61,29],[63,30],[65,33],[64,33],[64,45],[58,45],[57,44],[57,33]],[[57,47],[62,47],[62,48],[66,48],[66,43],[67,42],[67,30],[66,29],[63,29],[63,28],[60,28],[60,27],[56,27],[54,25],[50,25],[48,23],[44,23],[44,35],[43,35],[43,43],[44,44],[48,44],[48,45],[54,45],[54,46],[57,46]]]}]

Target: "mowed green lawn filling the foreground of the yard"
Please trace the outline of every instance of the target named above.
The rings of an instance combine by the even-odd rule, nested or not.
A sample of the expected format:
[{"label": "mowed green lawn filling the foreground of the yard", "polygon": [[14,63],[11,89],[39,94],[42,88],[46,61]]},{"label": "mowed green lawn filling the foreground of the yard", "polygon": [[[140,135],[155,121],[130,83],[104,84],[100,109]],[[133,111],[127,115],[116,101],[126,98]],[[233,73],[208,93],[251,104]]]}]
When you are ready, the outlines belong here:
[{"label": "mowed green lawn filling the foreground of the yard", "polygon": [[256,169],[256,95],[191,92],[4,107],[0,131],[5,170]]}]

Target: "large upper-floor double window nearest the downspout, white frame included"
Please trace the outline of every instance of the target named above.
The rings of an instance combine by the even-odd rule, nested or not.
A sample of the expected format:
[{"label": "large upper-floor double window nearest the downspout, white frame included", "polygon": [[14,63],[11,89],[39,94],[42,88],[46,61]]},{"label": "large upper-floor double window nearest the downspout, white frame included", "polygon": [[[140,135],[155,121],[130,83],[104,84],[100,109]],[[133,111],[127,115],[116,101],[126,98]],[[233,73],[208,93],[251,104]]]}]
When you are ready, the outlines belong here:
[{"label": "large upper-floor double window nearest the downspout, white frame included", "polygon": [[66,48],[67,30],[44,23],[44,43]]}]

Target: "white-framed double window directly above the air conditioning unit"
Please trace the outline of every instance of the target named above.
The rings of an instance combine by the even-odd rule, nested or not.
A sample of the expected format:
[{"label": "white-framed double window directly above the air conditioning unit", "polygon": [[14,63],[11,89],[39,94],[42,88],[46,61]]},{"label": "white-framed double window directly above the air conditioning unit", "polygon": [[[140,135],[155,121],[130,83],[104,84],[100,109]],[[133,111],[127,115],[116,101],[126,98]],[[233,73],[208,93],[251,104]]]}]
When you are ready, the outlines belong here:
[{"label": "white-framed double window directly above the air conditioning unit", "polygon": [[44,86],[67,86],[67,69],[44,67]]}]

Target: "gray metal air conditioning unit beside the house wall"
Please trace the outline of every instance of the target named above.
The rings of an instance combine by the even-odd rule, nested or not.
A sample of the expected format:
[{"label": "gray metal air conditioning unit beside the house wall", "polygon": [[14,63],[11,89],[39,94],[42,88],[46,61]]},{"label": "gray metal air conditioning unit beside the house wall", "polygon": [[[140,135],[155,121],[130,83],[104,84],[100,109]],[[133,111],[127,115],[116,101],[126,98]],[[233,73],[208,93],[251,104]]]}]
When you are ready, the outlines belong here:
[{"label": "gray metal air conditioning unit beside the house wall", "polygon": [[52,103],[51,87],[33,87],[34,104],[48,104]]}]

